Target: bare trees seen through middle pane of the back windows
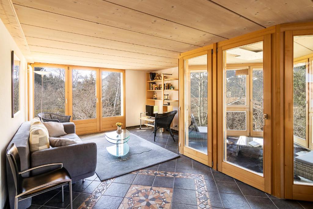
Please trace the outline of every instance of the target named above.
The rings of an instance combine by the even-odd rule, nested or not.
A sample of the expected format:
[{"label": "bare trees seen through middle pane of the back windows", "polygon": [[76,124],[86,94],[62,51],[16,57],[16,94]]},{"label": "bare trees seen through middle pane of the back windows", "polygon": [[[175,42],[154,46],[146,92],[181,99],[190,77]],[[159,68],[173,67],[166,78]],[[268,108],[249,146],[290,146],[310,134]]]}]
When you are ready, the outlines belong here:
[{"label": "bare trees seen through middle pane of the back windows", "polygon": [[96,72],[72,70],[73,120],[96,118]]}]

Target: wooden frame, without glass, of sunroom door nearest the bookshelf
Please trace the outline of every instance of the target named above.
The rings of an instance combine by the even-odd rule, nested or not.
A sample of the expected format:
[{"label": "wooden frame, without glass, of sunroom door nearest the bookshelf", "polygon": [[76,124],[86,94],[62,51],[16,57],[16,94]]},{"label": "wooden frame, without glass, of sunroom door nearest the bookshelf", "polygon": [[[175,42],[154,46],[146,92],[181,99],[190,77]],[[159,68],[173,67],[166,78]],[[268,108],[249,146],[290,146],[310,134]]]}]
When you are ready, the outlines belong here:
[{"label": "wooden frame, without glass, of sunroom door nearest the bookshelf", "polygon": [[[181,55],[179,63],[179,152],[187,157],[197,160],[210,167],[213,166],[213,45],[202,48],[200,51]],[[185,146],[185,61],[188,59],[207,55],[208,70],[208,154],[198,152],[196,149]]]}]

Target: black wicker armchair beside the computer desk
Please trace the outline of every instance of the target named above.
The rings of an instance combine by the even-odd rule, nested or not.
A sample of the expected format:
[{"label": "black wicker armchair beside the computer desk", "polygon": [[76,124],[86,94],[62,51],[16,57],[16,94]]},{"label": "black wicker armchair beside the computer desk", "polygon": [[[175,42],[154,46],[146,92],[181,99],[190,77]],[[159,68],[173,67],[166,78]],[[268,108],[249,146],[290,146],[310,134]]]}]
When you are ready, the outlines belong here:
[{"label": "black wicker armchair beside the computer desk", "polygon": [[158,129],[166,129],[170,132],[174,142],[174,134],[172,133],[171,130],[171,123],[174,119],[175,114],[177,113],[177,110],[168,112],[168,113],[163,113],[163,114],[156,114],[155,121],[154,121],[154,141],[156,141],[156,131]]}]

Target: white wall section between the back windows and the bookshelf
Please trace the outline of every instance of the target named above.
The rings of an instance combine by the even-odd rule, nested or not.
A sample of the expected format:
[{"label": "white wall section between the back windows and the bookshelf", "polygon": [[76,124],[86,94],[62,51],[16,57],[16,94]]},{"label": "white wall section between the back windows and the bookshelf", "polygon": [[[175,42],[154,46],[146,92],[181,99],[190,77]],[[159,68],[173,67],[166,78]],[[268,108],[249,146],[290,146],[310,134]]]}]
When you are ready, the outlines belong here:
[{"label": "white wall section between the back windows and the bookshelf", "polygon": [[141,112],[146,110],[146,72],[125,70],[126,127],[140,124]]}]

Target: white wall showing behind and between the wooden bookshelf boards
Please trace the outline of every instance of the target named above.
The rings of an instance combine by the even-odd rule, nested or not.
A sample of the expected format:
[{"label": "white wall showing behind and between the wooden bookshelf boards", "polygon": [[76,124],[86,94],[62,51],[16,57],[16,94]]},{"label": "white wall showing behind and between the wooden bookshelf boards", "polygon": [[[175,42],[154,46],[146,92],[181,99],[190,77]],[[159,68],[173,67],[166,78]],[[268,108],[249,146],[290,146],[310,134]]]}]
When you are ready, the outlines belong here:
[{"label": "white wall showing behind and between the wooden bookshelf boards", "polygon": [[[172,75],[165,75],[167,76],[166,78],[178,78],[178,67],[173,67],[173,68],[169,68],[169,69],[164,69],[164,70],[158,70],[155,71],[156,73],[158,73],[159,75],[162,75],[162,73],[167,73],[167,74],[172,74]],[[178,89],[178,80],[171,80],[171,81],[167,81],[165,83],[171,83],[175,89]],[[160,92],[157,92],[158,97],[161,97],[162,95],[160,95]],[[178,91],[166,91],[165,94],[168,94],[168,98],[169,100],[178,100]],[[173,110],[177,110],[178,111],[178,102],[170,102],[171,105],[173,105]],[[159,107],[162,107],[162,102],[156,102],[156,105],[160,105]],[[160,112],[160,108],[159,108],[159,112]],[[161,109],[162,112],[162,109]],[[175,115],[174,119],[173,119],[173,127],[177,125],[177,127],[173,128],[175,130],[179,130],[179,119],[178,119],[178,113]]]}]

